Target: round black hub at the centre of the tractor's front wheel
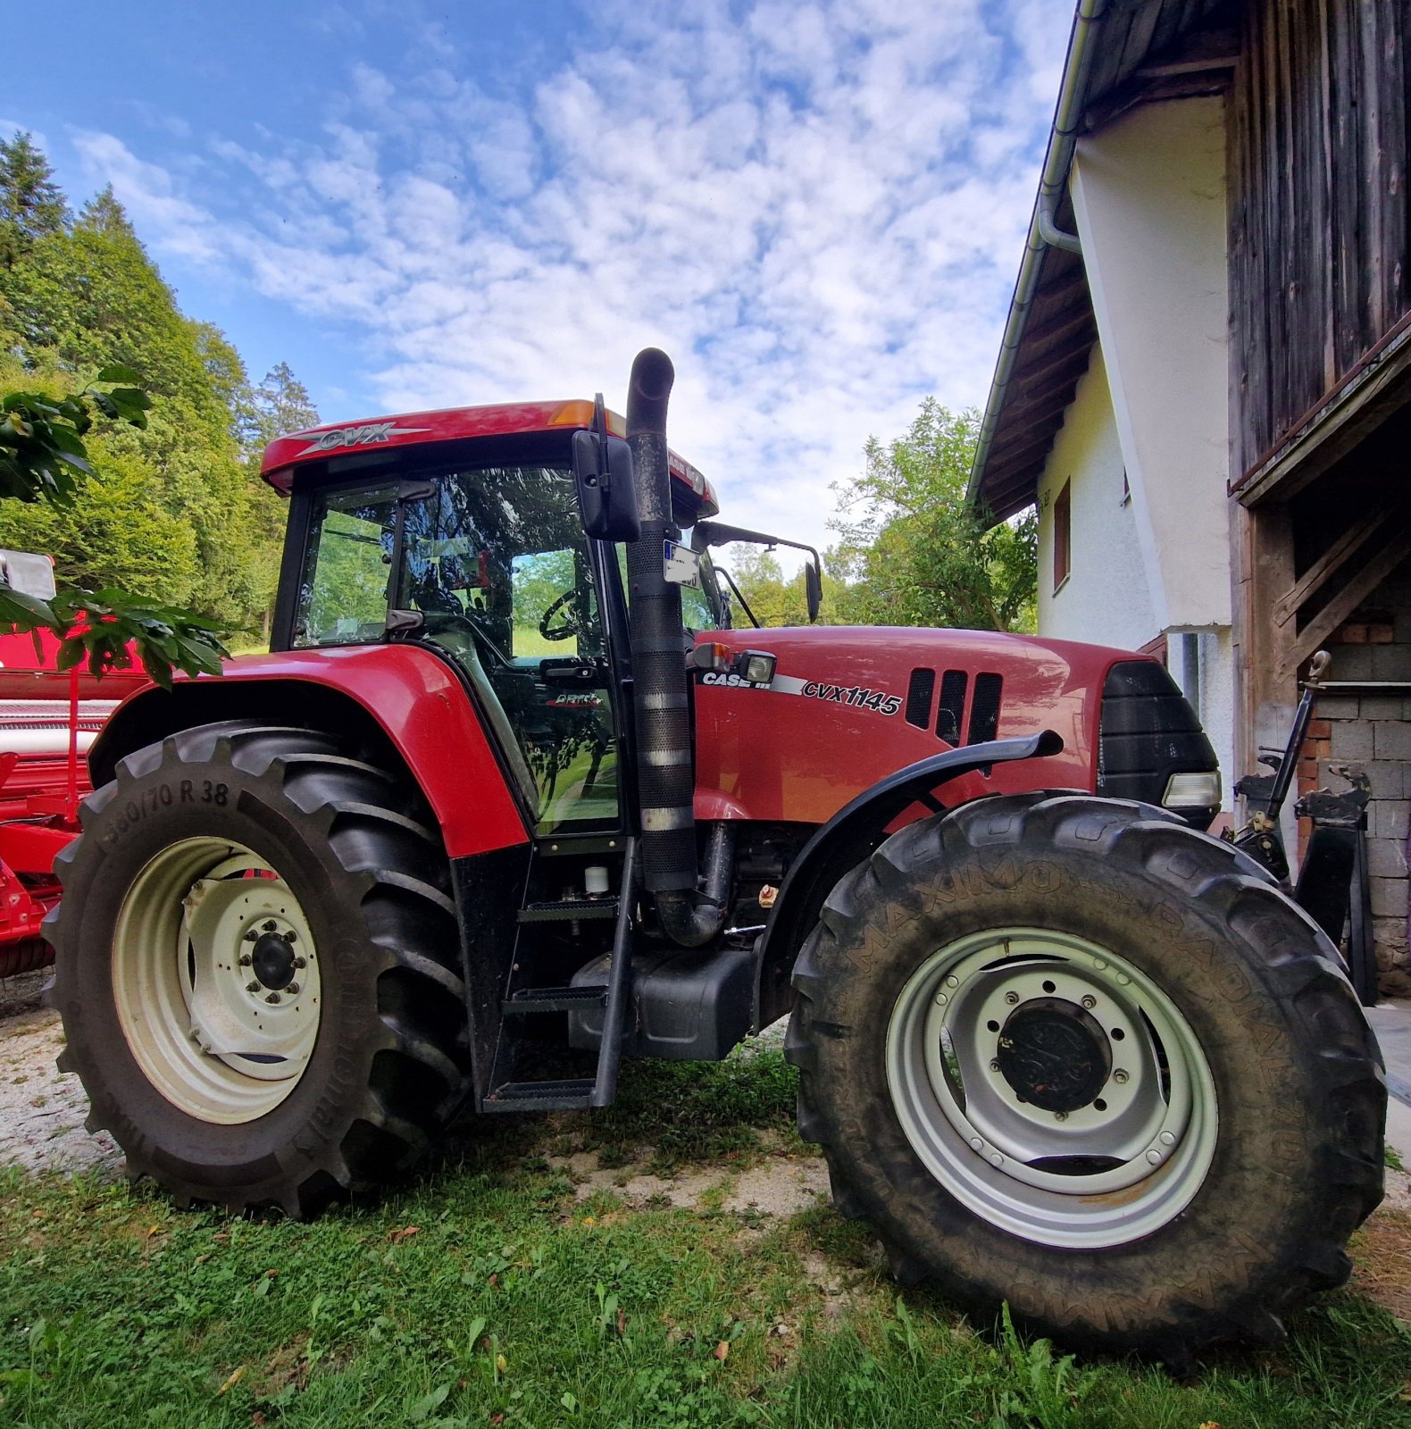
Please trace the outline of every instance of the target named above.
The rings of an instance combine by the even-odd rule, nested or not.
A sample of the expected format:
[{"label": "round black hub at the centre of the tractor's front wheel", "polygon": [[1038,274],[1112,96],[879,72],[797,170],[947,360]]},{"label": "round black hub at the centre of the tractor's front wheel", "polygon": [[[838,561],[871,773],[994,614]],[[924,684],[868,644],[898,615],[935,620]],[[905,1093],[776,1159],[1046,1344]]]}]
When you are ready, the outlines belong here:
[{"label": "round black hub at the centre of the tractor's front wheel", "polygon": [[1107,1033],[1065,997],[1034,997],[1015,1007],[1000,1032],[995,1060],[1014,1095],[1045,1112],[1090,1106],[1113,1070]]}]

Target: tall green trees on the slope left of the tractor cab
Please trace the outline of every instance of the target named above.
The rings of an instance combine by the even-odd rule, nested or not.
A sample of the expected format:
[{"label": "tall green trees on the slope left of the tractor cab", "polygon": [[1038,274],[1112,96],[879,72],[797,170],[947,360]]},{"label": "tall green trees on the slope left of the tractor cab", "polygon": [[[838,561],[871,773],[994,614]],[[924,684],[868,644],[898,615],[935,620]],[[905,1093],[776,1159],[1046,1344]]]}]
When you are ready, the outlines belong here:
[{"label": "tall green trees on the slope left of the tractor cab", "polygon": [[60,504],[6,503],[0,544],[51,553],[66,583],[267,630],[284,504],[258,477],[258,447],[286,420],[317,422],[307,392],[284,364],[253,389],[224,334],[180,312],[111,189],[74,219],[23,134],[0,144],[0,246],[11,229],[0,390],[53,406],[74,400],[76,373],[121,364],[153,406],[133,423],[130,382],[93,393],[94,414],[116,420],[80,433],[87,469],[51,453]]}]

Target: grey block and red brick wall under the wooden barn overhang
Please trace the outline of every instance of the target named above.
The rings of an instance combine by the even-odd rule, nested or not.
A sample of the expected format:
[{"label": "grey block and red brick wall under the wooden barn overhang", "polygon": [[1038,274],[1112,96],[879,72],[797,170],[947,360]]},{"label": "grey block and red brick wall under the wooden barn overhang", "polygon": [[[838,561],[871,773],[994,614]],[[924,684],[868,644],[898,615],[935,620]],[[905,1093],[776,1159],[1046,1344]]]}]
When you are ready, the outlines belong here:
[{"label": "grey block and red brick wall under the wooden barn overhang", "polygon": [[[1328,679],[1411,680],[1411,570],[1378,589],[1375,606],[1360,610],[1334,636]],[[1330,766],[1365,770],[1372,802],[1367,819],[1372,932],[1381,990],[1411,995],[1407,956],[1408,797],[1411,797],[1411,696],[1348,690],[1318,699],[1317,719],[1298,763],[1298,792],[1347,787]],[[1300,850],[1307,837],[1300,822]]]}]

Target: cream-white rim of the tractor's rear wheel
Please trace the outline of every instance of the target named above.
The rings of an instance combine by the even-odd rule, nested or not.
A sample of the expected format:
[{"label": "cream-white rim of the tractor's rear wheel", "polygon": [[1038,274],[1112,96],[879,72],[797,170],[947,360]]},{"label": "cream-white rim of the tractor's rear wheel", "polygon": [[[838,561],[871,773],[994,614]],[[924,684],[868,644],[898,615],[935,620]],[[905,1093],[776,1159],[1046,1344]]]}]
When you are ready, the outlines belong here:
[{"label": "cream-white rim of the tractor's rear wheel", "polygon": [[298,1086],[321,979],[288,885],[229,839],[183,839],[133,880],[113,933],[113,999],[147,1080],[201,1122],[253,1122]]}]

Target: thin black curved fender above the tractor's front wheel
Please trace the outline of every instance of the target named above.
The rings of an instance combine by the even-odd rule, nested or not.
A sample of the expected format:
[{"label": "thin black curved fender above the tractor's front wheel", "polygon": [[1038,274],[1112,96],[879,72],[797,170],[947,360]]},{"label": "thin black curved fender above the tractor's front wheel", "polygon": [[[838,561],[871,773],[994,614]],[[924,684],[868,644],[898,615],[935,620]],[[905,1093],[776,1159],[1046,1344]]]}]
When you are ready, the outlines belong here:
[{"label": "thin black curved fender above the tractor's front wheel", "polygon": [[[793,1002],[788,983],[798,947],[808,936],[823,902],[848,869],[887,837],[890,826],[914,805],[940,812],[931,792],[988,765],[1043,759],[1063,753],[1063,737],[1051,729],[1025,739],[997,739],[933,755],[864,789],[804,845],[790,865],[763,935],[758,1026],[784,1016]],[[1040,787],[1035,783],[1035,787]]]}]

